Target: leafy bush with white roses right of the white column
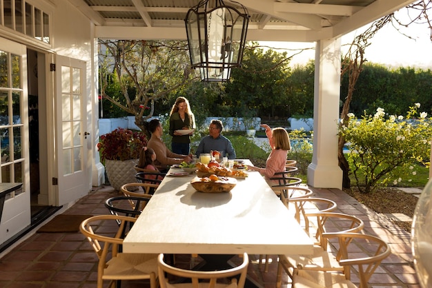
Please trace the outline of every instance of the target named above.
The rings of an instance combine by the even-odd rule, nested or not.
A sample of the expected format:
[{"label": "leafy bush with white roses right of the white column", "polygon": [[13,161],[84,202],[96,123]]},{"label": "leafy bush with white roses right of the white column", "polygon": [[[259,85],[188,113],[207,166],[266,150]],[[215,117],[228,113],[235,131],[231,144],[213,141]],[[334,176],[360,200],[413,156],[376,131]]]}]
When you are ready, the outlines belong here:
[{"label": "leafy bush with white roses right of the white column", "polygon": [[[348,143],[346,154],[351,163],[360,192],[373,192],[377,187],[397,185],[401,176],[416,174],[415,165],[429,167],[432,118],[426,112],[418,112],[420,103],[409,107],[407,115],[386,115],[377,108],[374,115],[357,119],[348,114],[348,123],[340,125],[340,136]],[[397,169],[397,176],[395,169]]]}]

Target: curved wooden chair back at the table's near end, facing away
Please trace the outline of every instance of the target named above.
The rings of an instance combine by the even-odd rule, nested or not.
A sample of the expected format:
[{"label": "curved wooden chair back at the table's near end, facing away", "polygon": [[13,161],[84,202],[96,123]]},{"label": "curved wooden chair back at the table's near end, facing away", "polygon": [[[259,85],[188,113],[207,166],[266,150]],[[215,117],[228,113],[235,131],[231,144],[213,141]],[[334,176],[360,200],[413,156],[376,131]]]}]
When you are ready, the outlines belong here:
[{"label": "curved wooden chair back at the table's near end, facing away", "polygon": [[[190,287],[190,288],[243,288],[246,282],[249,258],[248,254],[242,255],[240,265],[217,271],[197,271],[181,269],[168,265],[164,261],[164,254],[157,257],[159,271],[159,284],[161,288]],[[188,283],[170,283],[168,277],[182,278]],[[238,278],[238,280],[237,280]],[[218,282],[219,280],[219,282]],[[223,280],[222,282],[220,280]]]}]

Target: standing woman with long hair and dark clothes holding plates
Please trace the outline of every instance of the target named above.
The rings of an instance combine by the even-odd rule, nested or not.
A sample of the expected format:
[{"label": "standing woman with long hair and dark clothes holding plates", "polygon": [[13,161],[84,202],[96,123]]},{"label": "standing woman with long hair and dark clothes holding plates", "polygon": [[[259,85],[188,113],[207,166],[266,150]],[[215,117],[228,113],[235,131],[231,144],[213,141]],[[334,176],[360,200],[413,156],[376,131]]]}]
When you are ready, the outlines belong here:
[{"label": "standing woman with long hair and dark clothes holding plates", "polygon": [[195,116],[190,111],[188,99],[179,96],[170,112],[170,135],[173,136],[171,141],[171,150],[176,154],[190,154],[190,135],[180,134],[175,130],[195,129]]}]

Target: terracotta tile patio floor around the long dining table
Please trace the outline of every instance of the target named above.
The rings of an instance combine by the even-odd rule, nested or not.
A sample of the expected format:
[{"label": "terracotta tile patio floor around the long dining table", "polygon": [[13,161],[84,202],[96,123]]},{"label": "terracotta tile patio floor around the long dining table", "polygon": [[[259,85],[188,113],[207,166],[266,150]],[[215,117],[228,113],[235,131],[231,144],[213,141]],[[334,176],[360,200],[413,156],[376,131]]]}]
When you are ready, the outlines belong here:
[{"label": "terracotta tile patio floor around the long dining table", "polygon": [[[409,233],[338,189],[313,190],[314,196],[334,200],[337,212],[362,218],[365,233],[379,236],[391,245],[393,254],[375,271],[369,287],[420,287],[413,268]],[[117,195],[110,186],[95,187],[88,196],[81,198],[63,213],[107,214],[104,200]],[[257,232],[259,233],[259,228]],[[249,277],[262,287],[275,287],[277,257],[270,256],[267,272],[259,267],[257,255],[251,255],[250,258]],[[79,232],[34,233],[0,255],[0,287],[4,288],[96,287],[96,277],[97,256]],[[355,274],[352,280],[357,280]],[[144,281],[124,281],[121,287],[142,288],[148,285]],[[285,274],[282,287],[291,287]]]}]

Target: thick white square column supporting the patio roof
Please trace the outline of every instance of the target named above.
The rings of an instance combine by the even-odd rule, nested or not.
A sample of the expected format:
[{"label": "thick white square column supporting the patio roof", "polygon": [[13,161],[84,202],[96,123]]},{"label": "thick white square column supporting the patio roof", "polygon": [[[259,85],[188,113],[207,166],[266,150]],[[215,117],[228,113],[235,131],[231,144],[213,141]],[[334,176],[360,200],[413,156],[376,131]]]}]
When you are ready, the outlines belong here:
[{"label": "thick white square column supporting the patio roof", "polygon": [[340,107],[340,38],[317,41],[313,103],[313,158],[308,185],[342,189],[337,165],[337,121]]}]

